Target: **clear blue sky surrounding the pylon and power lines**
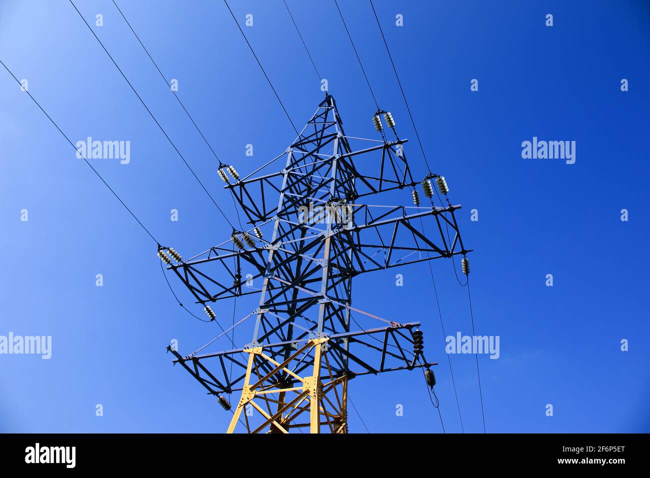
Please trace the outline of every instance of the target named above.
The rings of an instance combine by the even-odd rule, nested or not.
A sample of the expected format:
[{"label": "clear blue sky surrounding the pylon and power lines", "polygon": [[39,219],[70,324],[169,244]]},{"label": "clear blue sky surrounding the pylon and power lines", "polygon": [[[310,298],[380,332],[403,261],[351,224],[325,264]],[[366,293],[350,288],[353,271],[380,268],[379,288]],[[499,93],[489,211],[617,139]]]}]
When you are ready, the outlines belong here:
[{"label": "clear blue sky surrounding the pylon and power lines", "polygon": [[[103,15],[94,31],[234,219],[214,157],[112,2],[75,3],[91,25]],[[287,3],[346,133],[374,138],[374,103],[333,2]],[[432,169],[447,178],[452,202],[463,204],[463,240],[474,248],[476,332],[500,337],[498,360],[479,357],[487,431],[650,431],[647,3],[374,3]],[[291,143],[291,126],[222,2],[118,5],[166,77],[178,79],[179,97],[224,162],[247,174]],[[339,5],[380,105],[411,140],[411,169],[424,176],[370,5]],[[244,31],[300,127],[322,92],[283,3],[233,0],[231,7],[242,27],[253,15]],[[549,13],[552,27],[545,26]],[[229,226],[70,3],[0,2],[0,59],[29,81],[29,92],[73,142],[131,142],[128,165],[92,164],[161,243],[193,256],[226,239]],[[477,92],[471,79],[478,79]],[[621,91],[621,79],[629,91]],[[575,140],[575,164],[523,159],[521,142],[533,137]],[[218,329],[175,304],[151,238],[5,70],[0,141],[0,336],[52,336],[53,343],[49,360],[0,355],[0,431],[224,431],[231,415],[165,353],[172,339],[186,353]],[[177,222],[171,209],[179,211]],[[478,209],[476,222],[471,209]],[[629,211],[627,222],[621,209]],[[434,262],[447,334],[471,334],[465,289],[448,261]],[[404,274],[403,287],[395,286],[396,272]],[[367,276],[354,286],[354,305],[422,322],[428,358],[441,363],[436,393],[445,428],[458,432],[426,274],[426,265],[413,265]],[[240,300],[236,316],[254,300]],[[231,303],[218,303],[224,326],[232,313]],[[249,339],[250,330],[237,330],[235,341]],[[629,351],[621,351],[621,339]],[[474,356],[451,360],[465,431],[480,432]],[[441,431],[417,372],[357,378],[350,397],[371,432]],[[404,416],[396,416],[398,404]],[[350,431],[365,431],[354,412]]]}]

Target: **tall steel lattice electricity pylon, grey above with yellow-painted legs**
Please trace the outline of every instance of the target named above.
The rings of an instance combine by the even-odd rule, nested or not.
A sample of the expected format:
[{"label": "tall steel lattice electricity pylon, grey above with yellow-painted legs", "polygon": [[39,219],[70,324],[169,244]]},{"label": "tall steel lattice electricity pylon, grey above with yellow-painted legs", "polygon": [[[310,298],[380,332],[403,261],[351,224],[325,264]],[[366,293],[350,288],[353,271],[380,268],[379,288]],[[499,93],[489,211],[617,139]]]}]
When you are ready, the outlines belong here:
[{"label": "tall steel lattice electricity pylon, grey above with yellow-painted legs", "polygon": [[[382,113],[394,140],[386,138]],[[262,282],[259,306],[239,322],[255,317],[248,345],[188,356],[168,347],[174,363],[224,408],[231,406],[223,394],[240,392],[228,432],[242,425],[248,432],[309,427],[345,433],[349,380],[437,365],[424,358],[419,321],[398,323],[352,306],[352,279],[359,274],[469,252],[454,217],[460,206],[448,200],[446,206],[418,206],[416,187],[433,196],[429,179],[447,198],[444,178],[413,181],[406,139],[398,138],[391,114],[378,111],[372,120],[381,140],[346,136],[334,98],[326,94],[285,153],[246,178],[220,167],[252,228],[233,230],[228,241],[186,261],[172,250],[177,263],[168,269],[211,319],[216,314],[209,302],[259,291],[242,288],[242,265],[255,271],[249,281]],[[357,143],[366,147],[353,148]],[[284,168],[274,172],[284,155]],[[364,204],[367,196],[401,190],[416,206]],[[354,314],[381,326],[354,330]],[[435,382],[432,377],[428,382]]]}]

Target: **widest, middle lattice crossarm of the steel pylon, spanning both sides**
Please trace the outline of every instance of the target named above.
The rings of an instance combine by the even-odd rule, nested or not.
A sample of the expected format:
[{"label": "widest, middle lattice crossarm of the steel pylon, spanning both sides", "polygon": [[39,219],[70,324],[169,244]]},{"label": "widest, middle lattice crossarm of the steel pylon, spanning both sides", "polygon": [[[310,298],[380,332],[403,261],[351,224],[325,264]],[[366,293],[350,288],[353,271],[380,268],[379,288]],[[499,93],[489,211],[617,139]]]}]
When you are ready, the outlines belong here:
[{"label": "widest, middle lattice crossarm of the steel pylon, spanning both sides", "polygon": [[[296,284],[318,282],[319,276],[311,280],[309,277],[324,265],[324,259],[317,254],[331,236],[338,237],[340,243],[333,243],[328,261],[341,274],[379,271],[470,252],[463,246],[454,216],[460,205],[351,207],[354,219],[348,224],[326,228],[314,221],[302,224],[278,220],[278,239],[273,244],[262,240],[255,248],[233,251],[227,250],[224,243],[168,269],[177,274],[197,302],[205,303],[257,293],[259,289],[244,284],[259,282],[265,274],[288,281],[289,287],[279,293],[288,293]],[[336,211],[326,214],[330,221],[337,219]],[[269,262],[271,250],[275,254]],[[287,264],[298,256],[305,267],[293,273]],[[336,274],[333,278],[337,278]]]}]

